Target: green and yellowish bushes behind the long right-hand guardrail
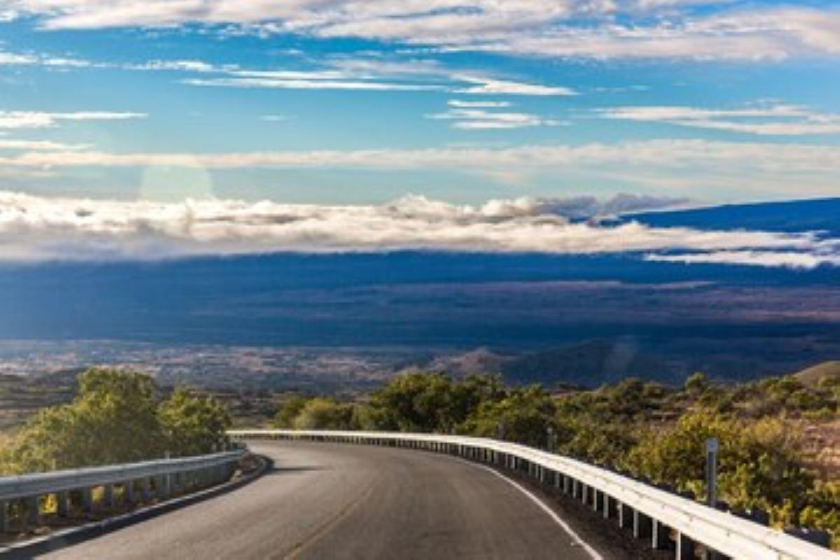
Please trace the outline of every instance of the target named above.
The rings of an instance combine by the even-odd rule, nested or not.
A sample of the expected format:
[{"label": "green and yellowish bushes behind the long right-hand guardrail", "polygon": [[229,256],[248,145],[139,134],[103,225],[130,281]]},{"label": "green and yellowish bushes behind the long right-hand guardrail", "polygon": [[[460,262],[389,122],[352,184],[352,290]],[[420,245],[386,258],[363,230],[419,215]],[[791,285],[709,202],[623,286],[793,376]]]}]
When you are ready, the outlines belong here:
[{"label": "green and yellowish bushes behind the long right-hand guardrail", "polygon": [[[680,388],[625,379],[597,390],[507,387],[496,375],[403,374],[364,399],[285,395],[275,426],[498,437],[617,468],[702,500],[704,446],[720,441],[719,495],[774,526],[829,531],[840,544],[840,377],[794,375]],[[833,430],[833,432],[832,432]],[[815,439],[816,438],[816,439]],[[816,444],[815,444],[816,442]],[[832,461],[835,461],[832,463]]]}]

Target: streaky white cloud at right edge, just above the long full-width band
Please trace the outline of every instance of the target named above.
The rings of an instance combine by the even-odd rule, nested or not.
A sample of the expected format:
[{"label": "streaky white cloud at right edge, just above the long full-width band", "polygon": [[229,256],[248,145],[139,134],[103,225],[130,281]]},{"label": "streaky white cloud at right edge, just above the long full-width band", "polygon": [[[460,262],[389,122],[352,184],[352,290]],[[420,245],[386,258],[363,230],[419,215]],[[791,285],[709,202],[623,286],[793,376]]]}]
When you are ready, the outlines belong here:
[{"label": "streaky white cloud at right edge, just above the long full-width band", "polygon": [[840,115],[816,113],[797,105],[756,105],[737,109],[699,107],[612,107],[603,118],[676,124],[740,133],[777,136],[840,133]]}]

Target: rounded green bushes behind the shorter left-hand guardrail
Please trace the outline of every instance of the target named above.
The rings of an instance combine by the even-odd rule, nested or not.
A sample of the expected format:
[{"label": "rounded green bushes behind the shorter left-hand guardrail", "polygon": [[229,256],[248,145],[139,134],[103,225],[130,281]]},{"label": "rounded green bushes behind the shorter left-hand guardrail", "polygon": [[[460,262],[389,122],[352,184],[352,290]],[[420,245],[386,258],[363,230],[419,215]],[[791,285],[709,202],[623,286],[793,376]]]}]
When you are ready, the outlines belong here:
[{"label": "rounded green bushes behind the shorter left-hand guardrail", "polygon": [[88,369],[76,397],[0,440],[0,474],[212,453],[228,445],[228,411],[178,388],[165,396],[147,374]]}]

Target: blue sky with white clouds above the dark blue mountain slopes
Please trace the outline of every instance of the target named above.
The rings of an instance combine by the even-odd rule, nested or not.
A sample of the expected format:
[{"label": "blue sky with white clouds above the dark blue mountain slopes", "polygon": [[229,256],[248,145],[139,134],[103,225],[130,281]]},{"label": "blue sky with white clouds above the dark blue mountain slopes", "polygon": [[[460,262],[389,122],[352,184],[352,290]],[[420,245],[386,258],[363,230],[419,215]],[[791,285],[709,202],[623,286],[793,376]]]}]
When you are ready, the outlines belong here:
[{"label": "blue sky with white clouds above the dark blue mountain slopes", "polygon": [[547,210],[581,196],[840,196],[840,3],[0,0],[0,257],[780,249]]}]

